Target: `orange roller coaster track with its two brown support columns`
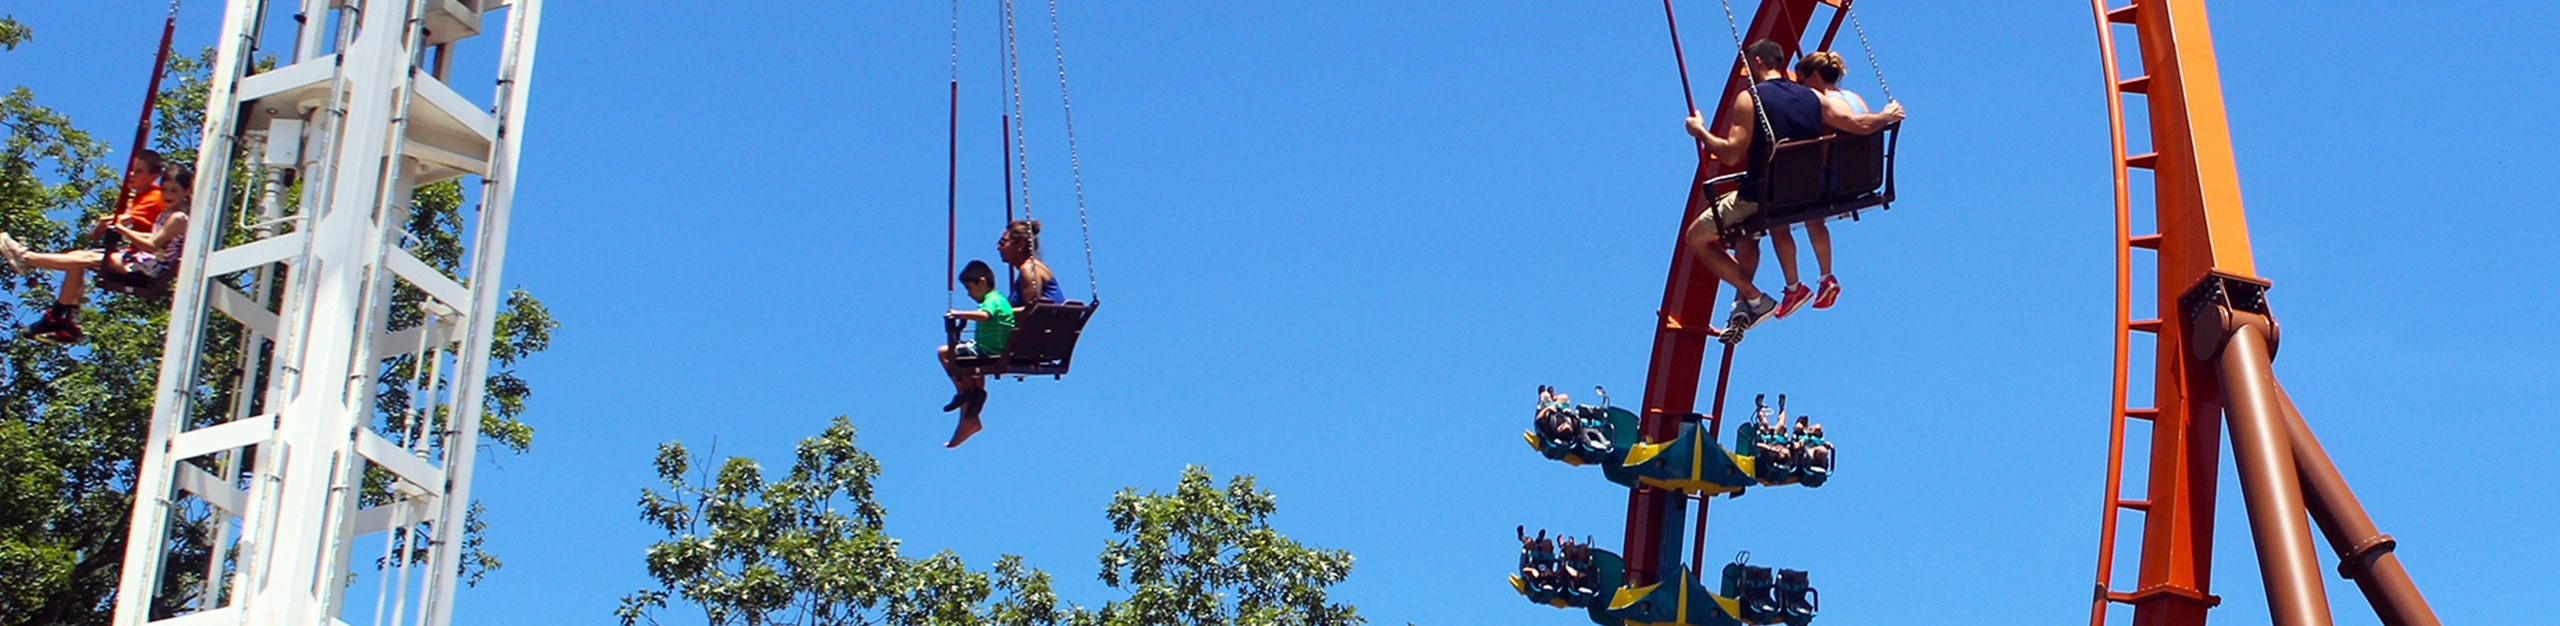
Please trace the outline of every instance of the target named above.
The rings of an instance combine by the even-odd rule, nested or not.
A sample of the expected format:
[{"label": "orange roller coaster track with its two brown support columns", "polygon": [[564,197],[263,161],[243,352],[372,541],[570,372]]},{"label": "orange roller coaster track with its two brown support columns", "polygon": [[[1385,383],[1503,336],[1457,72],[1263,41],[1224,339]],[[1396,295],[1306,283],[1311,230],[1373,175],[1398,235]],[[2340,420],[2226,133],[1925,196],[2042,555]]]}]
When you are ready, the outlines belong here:
[{"label": "orange roller coaster track with its two brown support columns", "polygon": [[[2317,524],[2337,552],[2337,572],[2355,580],[2383,623],[2435,626],[2427,600],[2391,554],[2396,542],[2373,529],[2271,370],[2281,335],[2266,304],[2268,281],[2258,279],[2250,258],[2204,0],[2132,0],[2122,8],[2092,0],[2092,10],[2107,74],[2117,307],[2107,498],[2089,623],[2107,626],[2107,606],[2127,603],[2135,626],[2194,626],[2222,600],[2212,595],[2212,529],[2217,455],[2230,424],[2273,623],[2330,623],[2312,547]],[[2140,77],[2122,77],[2120,26],[2135,33]],[[2127,95],[2140,95],[2148,110],[2145,153],[2127,146]],[[2132,233],[2138,171],[2150,174],[2158,235]],[[2132,319],[2138,248],[2158,253],[2156,319]],[[2127,406],[2138,335],[2156,340],[2150,409]],[[2143,498],[2122,493],[2130,419],[2150,422]],[[2109,590],[2117,521],[2127,511],[2143,524],[2140,572],[2135,590]]]}]

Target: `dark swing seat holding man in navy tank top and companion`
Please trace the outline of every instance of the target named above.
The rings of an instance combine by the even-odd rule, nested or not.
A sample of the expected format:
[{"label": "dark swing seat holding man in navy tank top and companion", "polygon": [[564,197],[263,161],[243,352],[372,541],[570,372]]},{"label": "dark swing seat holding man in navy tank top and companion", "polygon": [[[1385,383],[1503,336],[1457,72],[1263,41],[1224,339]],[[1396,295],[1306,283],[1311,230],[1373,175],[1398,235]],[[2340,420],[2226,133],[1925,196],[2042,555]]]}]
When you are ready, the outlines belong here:
[{"label": "dark swing seat holding man in navy tank top and companion", "polygon": [[[1782,141],[1769,151],[1769,166],[1759,176],[1759,212],[1736,225],[1741,233],[1764,233],[1800,222],[1856,215],[1894,202],[1894,146],[1902,123],[1889,123],[1876,133],[1825,133],[1820,138]],[[1743,174],[1708,179],[1708,197],[1723,187],[1738,187]]]}]

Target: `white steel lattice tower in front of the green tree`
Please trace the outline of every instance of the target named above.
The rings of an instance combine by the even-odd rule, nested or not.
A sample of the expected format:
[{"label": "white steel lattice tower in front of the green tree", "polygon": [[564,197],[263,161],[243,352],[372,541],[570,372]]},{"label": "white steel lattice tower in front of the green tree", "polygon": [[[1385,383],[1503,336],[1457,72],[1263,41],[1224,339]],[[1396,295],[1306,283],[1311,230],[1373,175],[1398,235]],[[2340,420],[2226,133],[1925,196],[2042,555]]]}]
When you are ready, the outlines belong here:
[{"label": "white steel lattice tower in front of the green tree", "polygon": [[[228,3],[118,626],[453,618],[540,5]],[[453,59],[492,43],[494,74],[463,79],[494,82],[476,105]],[[253,74],[261,49],[282,59]],[[463,176],[466,261],[438,268],[412,253],[410,192]],[[241,376],[212,381],[218,358]],[[376,406],[394,360],[410,396]],[[210,557],[174,562],[182,537]],[[172,567],[202,583],[166,588]]]}]

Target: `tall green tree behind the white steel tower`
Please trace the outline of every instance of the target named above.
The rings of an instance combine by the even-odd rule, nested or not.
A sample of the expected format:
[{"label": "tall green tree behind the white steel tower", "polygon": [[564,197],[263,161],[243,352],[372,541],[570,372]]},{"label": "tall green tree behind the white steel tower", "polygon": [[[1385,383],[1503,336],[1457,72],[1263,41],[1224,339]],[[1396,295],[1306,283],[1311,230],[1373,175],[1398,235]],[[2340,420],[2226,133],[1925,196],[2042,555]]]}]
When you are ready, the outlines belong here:
[{"label": "tall green tree behind the white steel tower", "polygon": [[[0,18],[0,49],[28,38],[28,28]],[[177,164],[195,161],[210,59],[212,49],[172,56],[166,89],[154,102],[154,148]],[[105,141],[36,105],[33,92],[23,87],[0,97],[0,128],[8,130],[0,143],[0,230],[33,248],[72,248],[77,227],[115,202],[118,171],[110,164],[123,158],[110,161]],[[253,171],[228,174],[236,194],[259,189]],[[230,197],[225,204],[238,207],[241,199]],[[407,235],[422,243],[412,250],[451,273],[461,266],[466,204],[461,187],[451,181],[422,187],[412,204]],[[223,238],[238,243],[248,233],[233,230]],[[54,279],[0,271],[0,332],[15,337],[33,322],[54,302]],[[253,279],[243,273],[228,281],[246,289]],[[415,294],[402,296],[415,302]],[[82,345],[0,342],[0,626],[108,621],[166,319],[166,302],[92,294],[82,314],[90,332]],[[415,322],[394,319],[394,324]],[[532,388],[515,376],[515,363],[548,347],[558,324],[522,291],[507,299],[497,322],[481,416],[484,445],[525,452],[532,445],[532,427],[520,416]],[[241,327],[228,319],[215,317],[207,324],[207,358],[195,386],[200,411],[189,416],[197,424],[223,419],[233,383],[256,365],[241,363]],[[384,383],[376,391],[384,419],[407,406],[410,368],[407,358],[381,363]],[[468,524],[474,534],[466,537],[463,570],[479,580],[499,562],[479,552],[479,521]],[[172,534],[166,544],[172,567],[161,580],[161,598],[154,598],[156,613],[197,600],[192,593],[205,560],[212,557],[210,529],[212,519],[195,511]]]}]

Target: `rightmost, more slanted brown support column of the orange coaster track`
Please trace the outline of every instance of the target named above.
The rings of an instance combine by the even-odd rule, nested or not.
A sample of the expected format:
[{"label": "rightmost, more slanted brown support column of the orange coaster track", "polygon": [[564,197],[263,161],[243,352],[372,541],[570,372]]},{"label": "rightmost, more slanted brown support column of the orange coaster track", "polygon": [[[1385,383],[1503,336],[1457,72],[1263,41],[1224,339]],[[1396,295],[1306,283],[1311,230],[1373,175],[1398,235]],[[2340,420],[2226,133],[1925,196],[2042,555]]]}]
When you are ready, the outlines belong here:
[{"label": "rightmost, more slanted brown support column of the orange coaster track", "polygon": [[2337,473],[2337,462],[2330,462],[2330,452],[2312,437],[2312,424],[2301,419],[2301,409],[2284,393],[2284,383],[2273,388],[2276,401],[2284,404],[2286,429],[2294,437],[2294,468],[2301,475],[2301,498],[2312,508],[2319,534],[2330,539],[2330,549],[2337,549],[2337,575],[2355,580],[2355,588],[2365,593],[2365,603],[2373,603],[2373,613],[2383,618],[2383,626],[2442,626],[2435,618],[2435,608],[2427,608],[2427,598],[2417,593],[2417,583],[2409,580],[2409,570],[2401,570],[2399,557],[2391,554],[2399,542],[2376,529],[2373,516],[2365,516],[2365,506],[2355,501],[2355,491]]}]

